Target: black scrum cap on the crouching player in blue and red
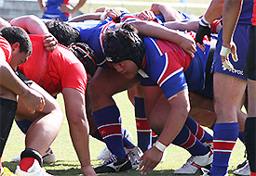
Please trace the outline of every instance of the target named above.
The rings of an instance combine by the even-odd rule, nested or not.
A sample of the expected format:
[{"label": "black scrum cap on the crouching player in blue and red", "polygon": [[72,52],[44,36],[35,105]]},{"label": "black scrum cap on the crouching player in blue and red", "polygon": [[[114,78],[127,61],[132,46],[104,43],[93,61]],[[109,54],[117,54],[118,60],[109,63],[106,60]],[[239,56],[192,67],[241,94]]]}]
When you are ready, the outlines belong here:
[{"label": "black scrum cap on the crouching player in blue and red", "polygon": [[119,30],[106,32],[103,47],[107,61],[119,63],[131,60],[141,69],[145,47],[131,25],[125,24]]}]

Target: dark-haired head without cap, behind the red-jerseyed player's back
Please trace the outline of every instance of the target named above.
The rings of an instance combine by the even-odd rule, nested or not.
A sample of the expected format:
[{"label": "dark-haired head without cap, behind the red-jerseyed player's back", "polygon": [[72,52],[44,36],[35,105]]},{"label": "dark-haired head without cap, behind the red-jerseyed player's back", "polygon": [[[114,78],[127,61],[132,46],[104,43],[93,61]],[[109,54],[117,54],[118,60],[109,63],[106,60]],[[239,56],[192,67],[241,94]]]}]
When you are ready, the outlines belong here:
[{"label": "dark-haired head without cap, behind the red-jerseyed player's back", "polygon": [[59,44],[68,47],[72,43],[81,42],[79,32],[67,23],[59,20],[50,20],[47,21],[46,25],[48,31],[58,40]]}]

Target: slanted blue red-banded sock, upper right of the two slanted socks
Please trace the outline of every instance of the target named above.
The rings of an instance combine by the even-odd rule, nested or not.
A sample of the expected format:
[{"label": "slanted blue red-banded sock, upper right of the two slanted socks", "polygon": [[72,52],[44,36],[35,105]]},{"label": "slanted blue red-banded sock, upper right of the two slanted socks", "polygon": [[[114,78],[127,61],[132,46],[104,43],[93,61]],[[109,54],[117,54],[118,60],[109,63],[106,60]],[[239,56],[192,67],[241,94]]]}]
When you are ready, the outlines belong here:
[{"label": "slanted blue red-banded sock, upper right of the two slanted socks", "polygon": [[195,137],[205,143],[207,141],[212,141],[213,137],[206,132],[196,121],[190,117],[187,117],[185,124],[188,126],[190,131],[195,135]]}]

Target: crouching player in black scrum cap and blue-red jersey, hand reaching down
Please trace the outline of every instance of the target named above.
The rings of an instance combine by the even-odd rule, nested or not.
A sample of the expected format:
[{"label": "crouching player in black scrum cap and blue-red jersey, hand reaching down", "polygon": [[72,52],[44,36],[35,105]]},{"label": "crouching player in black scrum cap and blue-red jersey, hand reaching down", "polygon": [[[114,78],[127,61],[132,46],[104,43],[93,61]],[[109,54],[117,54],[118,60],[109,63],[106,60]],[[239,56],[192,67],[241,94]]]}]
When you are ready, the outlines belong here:
[{"label": "crouching player in black scrum cap and blue-red jersey, hand reaching down", "polygon": [[[160,161],[161,152],[167,145],[178,142],[176,136],[183,130],[182,127],[190,109],[188,100],[188,87],[190,86],[187,85],[187,82],[194,91],[202,90],[203,80],[200,78],[203,78],[203,74],[200,71],[205,69],[209,47],[206,52],[197,50],[193,58],[176,44],[148,37],[141,39],[128,29],[107,32],[103,46],[107,60],[114,63],[117,72],[123,74],[128,80],[136,78],[137,73],[141,75],[147,118],[150,126],[159,134],[155,147],[147,150],[141,157],[141,173],[150,172]],[[194,64],[200,70],[197,72],[198,76],[185,78],[185,71],[189,75],[193,75],[189,73],[193,71],[196,75]],[[168,107],[170,106],[169,111],[169,108],[165,108],[165,111],[161,113],[164,116],[153,115],[161,112],[154,112],[154,107],[165,105],[160,99],[159,87],[168,99]],[[158,102],[158,100],[160,101]],[[175,127],[171,124],[175,124]],[[209,159],[210,153],[207,147],[203,153],[207,156],[205,159]]]}]

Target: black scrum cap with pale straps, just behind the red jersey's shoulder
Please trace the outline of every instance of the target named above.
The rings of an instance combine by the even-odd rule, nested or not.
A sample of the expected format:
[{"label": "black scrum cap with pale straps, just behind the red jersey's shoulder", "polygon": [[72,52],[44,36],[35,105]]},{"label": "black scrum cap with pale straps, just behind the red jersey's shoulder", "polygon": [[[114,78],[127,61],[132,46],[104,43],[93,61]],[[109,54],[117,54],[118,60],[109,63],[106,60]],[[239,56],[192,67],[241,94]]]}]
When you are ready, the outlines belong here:
[{"label": "black scrum cap with pale straps, just behind the red jersey's shoulder", "polygon": [[88,74],[93,76],[97,69],[97,65],[94,51],[89,48],[88,44],[74,43],[69,46],[69,49],[74,53],[75,57],[82,62]]}]

